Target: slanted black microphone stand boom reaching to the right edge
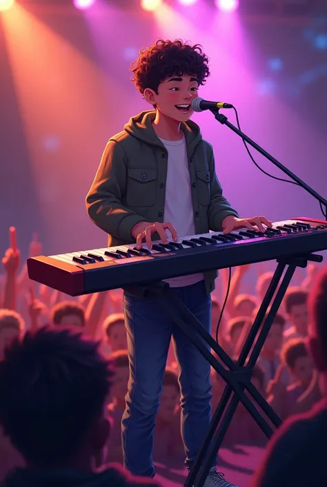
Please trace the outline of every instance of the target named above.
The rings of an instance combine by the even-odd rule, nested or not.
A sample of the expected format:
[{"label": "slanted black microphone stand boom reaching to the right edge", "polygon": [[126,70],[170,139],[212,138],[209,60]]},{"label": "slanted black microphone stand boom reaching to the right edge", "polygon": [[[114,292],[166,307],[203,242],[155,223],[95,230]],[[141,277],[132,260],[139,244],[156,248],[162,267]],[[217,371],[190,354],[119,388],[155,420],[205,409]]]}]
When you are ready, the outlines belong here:
[{"label": "slanted black microphone stand boom reaching to the right edge", "polygon": [[313,198],[315,198],[317,201],[319,201],[319,203],[325,208],[325,215],[324,216],[325,216],[326,221],[327,221],[327,200],[322,198],[322,196],[320,196],[314,189],[310,188],[308,186],[308,184],[306,184],[304,181],[302,181],[300,178],[298,178],[297,175],[293,174],[289,169],[287,169],[287,167],[283,166],[283,164],[281,164],[281,162],[277,161],[277,159],[275,159],[275,157],[270,155],[267,151],[262,149],[262,147],[260,147],[258,144],[253,142],[253,140],[251,140],[250,137],[248,137],[245,133],[241,132],[237,127],[235,127],[235,125],[232,125],[230,122],[228,122],[228,118],[225,115],[222,115],[221,113],[219,113],[219,110],[211,110],[211,112],[215,115],[215,119],[218,122],[220,122],[222,125],[228,126],[228,128],[230,128],[230,130],[232,130],[237,135],[239,135],[239,137],[241,137],[241,139],[245,140],[251,147],[253,147],[253,149],[258,151],[260,154],[264,155],[264,157],[266,157],[266,159],[268,159],[270,162],[275,164],[275,166],[277,166],[281,171],[283,171],[283,173],[288,175],[288,177],[290,179],[295,181],[301,188],[303,188],[305,191],[310,193],[310,195],[312,195]]}]

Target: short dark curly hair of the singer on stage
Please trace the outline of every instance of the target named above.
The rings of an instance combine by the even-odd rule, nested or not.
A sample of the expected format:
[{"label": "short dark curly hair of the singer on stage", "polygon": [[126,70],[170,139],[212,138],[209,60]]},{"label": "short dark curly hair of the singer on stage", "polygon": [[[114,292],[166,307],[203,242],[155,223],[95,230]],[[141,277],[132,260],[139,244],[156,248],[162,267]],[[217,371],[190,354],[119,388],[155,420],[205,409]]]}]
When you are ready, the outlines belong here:
[{"label": "short dark curly hair of the singer on stage", "polygon": [[146,88],[158,94],[158,87],[172,76],[195,75],[200,85],[210,76],[208,57],[202,46],[191,46],[181,39],[164,41],[158,39],[153,46],[139,50],[139,57],[132,63],[132,82],[143,95]]}]

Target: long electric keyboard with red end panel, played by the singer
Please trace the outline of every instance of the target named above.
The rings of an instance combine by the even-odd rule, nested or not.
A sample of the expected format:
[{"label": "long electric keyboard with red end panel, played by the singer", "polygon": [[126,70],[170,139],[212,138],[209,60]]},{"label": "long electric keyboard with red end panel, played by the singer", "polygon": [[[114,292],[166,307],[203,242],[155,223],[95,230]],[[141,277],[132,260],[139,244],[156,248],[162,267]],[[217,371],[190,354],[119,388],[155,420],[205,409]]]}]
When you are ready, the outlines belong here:
[{"label": "long electric keyboard with red end panel, played by the singer", "polygon": [[[169,240],[169,239],[168,239]],[[327,249],[327,224],[309,218],[274,222],[265,233],[239,229],[177,242],[153,242],[28,258],[28,276],[70,296],[118,289],[213,269],[264,262]]]}]

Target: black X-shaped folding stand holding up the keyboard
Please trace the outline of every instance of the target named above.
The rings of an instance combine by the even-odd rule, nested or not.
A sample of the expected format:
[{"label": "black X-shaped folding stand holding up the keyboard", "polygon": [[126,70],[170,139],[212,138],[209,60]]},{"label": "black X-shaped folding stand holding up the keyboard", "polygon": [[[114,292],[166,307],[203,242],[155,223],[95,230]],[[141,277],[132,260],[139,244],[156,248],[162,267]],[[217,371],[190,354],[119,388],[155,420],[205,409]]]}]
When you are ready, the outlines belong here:
[{"label": "black X-shaped folding stand holding up the keyboard", "polygon": [[[206,436],[206,439],[204,439],[203,446],[197,455],[195,464],[192,466],[192,469],[188,474],[184,487],[202,487],[204,485],[210,467],[212,466],[212,461],[214,461],[221,443],[224,440],[224,436],[226,435],[226,431],[237,410],[239,402],[241,402],[248,410],[266,437],[270,438],[273,434],[273,429],[270,427],[266,419],[262,417],[259,410],[257,410],[255,403],[257,403],[259,408],[266,414],[266,417],[273,423],[275,428],[278,428],[281,424],[281,419],[252,384],[252,369],[257,362],[261,348],[266,341],[270,327],[274,321],[279,306],[281,305],[281,301],[284,298],[295,269],[297,267],[305,268],[308,264],[308,260],[321,262],[323,258],[316,254],[307,254],[304,256],[295,256],[294,258],[277,259],[275,274],[270,282],[266,296],[259,307],[258,314],[252,324],[237,363],[235,363],[214,338],[204,330],[204,327],[197,318],[195,318],[192,312],[190,312],[184,303],[171,292],[169,285],[159,282],[139,287],[139,292],[143,297],[152,297],[158,300],[163,311],[168,314],[172,321],[174,321],[181,330],[183,330],[201,354],[206,357],[210,365],[217,371],[222,379],[226,381],[226,388],[221,396],[217,410],[215,411],[215,414],[213,414],[208,435]],[[266,312],[268,311],[268,307],[272,300],[273,303],[271,304],[266,321],[264,321],[264,317],[266,316]],[[264,324],[262,325],[263,321]],[[202,343],[200,336],[206,343],[208,343],[208,345],[210,345],[211,349],[217,354],[221,362],[228,367],[227,369],[209,350],[207,350],[204,343]],[[250,394],[255,403],[245,394],[244,389]]]}]

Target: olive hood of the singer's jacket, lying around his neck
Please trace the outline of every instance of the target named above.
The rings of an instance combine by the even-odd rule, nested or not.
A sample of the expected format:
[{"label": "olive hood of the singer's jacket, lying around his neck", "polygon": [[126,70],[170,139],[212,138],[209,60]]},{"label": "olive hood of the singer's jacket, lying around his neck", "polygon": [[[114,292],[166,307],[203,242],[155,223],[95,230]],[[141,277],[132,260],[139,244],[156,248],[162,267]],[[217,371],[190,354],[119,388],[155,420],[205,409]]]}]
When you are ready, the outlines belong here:
[{"label": "olive hood of the singer's jacket, lying around his neck", "polygon": [[[133,137],[143,140],[143,142],[146,142],[147,144],[164,147],[152,127],[155,115],[156,113],[153,110],[143,111],[139,113],[139,115],[131,117],[128,124],[124,126],[124,130]],[[181,122],[181,129],[185,134],[188,153],[191,154],[194,151],[195,146],[197,146],[202,139],[200,128],[195,122],[188,120],[188,122]]]}]

